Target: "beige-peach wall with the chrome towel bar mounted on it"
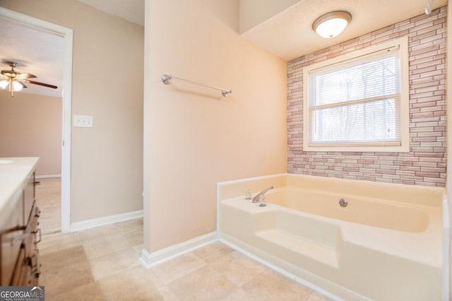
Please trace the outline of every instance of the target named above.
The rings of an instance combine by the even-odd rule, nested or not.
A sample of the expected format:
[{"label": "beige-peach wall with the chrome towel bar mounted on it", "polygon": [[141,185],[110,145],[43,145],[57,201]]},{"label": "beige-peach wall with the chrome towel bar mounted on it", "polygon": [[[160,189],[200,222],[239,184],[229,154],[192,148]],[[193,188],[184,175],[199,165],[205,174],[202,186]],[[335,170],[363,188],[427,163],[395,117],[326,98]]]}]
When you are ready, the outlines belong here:
[{"label": "beige-peach wall with the chrome towel bar mounted on it", "polygon": [[238,0],[146,1],[148,252],[215,231],[217,182],[287,171],[287,65],[237,34],[238,14]]}]

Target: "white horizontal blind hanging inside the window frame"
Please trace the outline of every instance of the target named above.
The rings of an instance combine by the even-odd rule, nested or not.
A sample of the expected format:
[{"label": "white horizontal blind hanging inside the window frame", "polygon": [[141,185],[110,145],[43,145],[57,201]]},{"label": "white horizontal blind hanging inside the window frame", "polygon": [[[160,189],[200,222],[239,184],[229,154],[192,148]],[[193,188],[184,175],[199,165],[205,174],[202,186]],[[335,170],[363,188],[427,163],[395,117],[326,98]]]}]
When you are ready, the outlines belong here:
[{"label": "white horizontal blind hanging inside the window frame", "polygon": [[398,49],[310,71],[308,88],[310,146],[400,146]]}]

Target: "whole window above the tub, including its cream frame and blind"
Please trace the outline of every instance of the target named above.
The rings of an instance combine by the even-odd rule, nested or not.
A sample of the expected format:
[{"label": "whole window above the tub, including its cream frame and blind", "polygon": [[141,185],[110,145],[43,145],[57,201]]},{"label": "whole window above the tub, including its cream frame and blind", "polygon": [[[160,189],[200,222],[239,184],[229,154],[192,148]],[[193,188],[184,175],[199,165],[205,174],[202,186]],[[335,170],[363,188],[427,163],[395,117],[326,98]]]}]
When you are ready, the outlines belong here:
[{"label": "whole window above the tub, including its cream frame and blind", "polygon": [[304,151],[409,151],[408,39],[304,68]]}]

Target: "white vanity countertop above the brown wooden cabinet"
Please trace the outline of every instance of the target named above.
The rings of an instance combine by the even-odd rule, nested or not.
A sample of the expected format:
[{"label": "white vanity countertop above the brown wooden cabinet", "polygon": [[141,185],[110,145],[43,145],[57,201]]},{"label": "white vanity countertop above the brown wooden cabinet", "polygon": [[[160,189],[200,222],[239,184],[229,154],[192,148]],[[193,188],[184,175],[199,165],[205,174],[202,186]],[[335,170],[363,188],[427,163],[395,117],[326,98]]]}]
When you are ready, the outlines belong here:
[{"label": "white vanity countertop above the brown wooden cabinet", "polygon": [[0,158],[0,223],[6,220],[20,199],[40,158]]}]

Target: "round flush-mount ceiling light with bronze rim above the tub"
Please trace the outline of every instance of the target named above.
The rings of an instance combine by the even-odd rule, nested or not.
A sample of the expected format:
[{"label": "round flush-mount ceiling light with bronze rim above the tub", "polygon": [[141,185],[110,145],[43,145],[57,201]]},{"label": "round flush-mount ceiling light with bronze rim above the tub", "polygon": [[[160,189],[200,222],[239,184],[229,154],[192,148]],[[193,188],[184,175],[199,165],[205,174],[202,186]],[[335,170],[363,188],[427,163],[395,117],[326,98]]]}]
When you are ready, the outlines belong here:
[{"label": "round flush-mount ceiling light with bronze rim above the tub", "polygon": [[321,37],[327,39],[342,33],[352,20],[352,15],[347,11],[332,11],[317,18],[312,24],[312,29]]}]

